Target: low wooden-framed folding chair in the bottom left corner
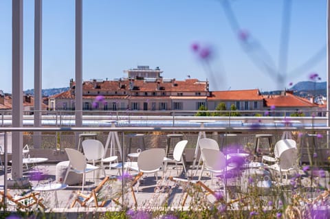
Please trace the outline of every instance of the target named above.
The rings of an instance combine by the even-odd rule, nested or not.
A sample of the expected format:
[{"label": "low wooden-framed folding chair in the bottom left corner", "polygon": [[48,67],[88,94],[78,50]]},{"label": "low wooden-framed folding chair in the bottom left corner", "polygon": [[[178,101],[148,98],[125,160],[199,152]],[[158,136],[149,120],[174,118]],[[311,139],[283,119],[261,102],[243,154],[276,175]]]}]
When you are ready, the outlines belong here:
[{"label": "low wooden-framed folding chair in the bottom left corner", "polygon": [[40,206],[41,208],[45,208],[43,205],[42,200],[43,198],[39,198],[39,192],[32,192],[31,194],[27,194],[25,196],[12,196],[8,192],[5,195],[4,191],[0,191],[1,196],[1,203],[4,204],[4,200],[7,199],[9,205],[15,205],[19,209],[31,209],[34,205],[37,207]]}]

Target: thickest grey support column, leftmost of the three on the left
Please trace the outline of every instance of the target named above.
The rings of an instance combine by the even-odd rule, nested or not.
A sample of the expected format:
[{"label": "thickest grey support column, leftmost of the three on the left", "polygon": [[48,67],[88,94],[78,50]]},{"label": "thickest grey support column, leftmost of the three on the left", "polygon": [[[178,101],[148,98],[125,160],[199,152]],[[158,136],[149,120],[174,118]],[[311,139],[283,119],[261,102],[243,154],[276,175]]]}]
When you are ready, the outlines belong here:
[{"label": "thickest grey support column, leftmost of the three on the left", "polygon": [[[12,126],[23,127],[23,0],[12,1]],[[23,176],[23,135],[12,133],[12,178]]]}]

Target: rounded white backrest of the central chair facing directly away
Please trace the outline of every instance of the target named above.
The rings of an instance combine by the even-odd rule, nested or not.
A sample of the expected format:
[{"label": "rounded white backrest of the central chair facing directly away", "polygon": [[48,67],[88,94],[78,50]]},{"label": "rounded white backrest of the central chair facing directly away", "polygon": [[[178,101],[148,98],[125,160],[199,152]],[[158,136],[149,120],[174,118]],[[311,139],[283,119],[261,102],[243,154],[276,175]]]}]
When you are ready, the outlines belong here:
[{"label": "rounded white backrest of the central chair facing directly away", "polygon": [[137,157],[137,167],[140,171],[152,171],[162,167],[165,150],[162,148],[151,148],[144,150]]}]

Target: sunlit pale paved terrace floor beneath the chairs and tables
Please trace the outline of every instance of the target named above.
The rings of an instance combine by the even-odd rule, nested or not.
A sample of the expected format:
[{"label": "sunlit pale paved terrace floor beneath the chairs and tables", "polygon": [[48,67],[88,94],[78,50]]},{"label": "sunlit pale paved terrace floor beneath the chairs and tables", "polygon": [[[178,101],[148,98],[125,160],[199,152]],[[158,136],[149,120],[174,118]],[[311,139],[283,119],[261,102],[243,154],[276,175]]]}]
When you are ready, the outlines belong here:
[{"label": "sunlit pale paved terrace floor beneath the chairs and tables", "polygon": [[[55,181],[55,168],[56,165],[54,164],[43,164],[38,165],[38,167],[30,168],[29,170],[24,172],[24,176],[30,177],[30,184],[32,187],[38,184],[47,184],[47,183],[54,183]],[[133,189],[135,191],[135,196],[137,199],[138,207],[142,208],[155,208],[159,206],[164,206],[164,204],[172,207],[181,207],[181,204],[184,200],[184,188],[187,185],[184,182],[175,183],[170,181],[168,176],[174,176],[178,178],[186,178],[182,173],[182,168],[179,166],[177,170],[175,166],[170,165],[166,171],[164,178],[156,178],[154,174],[146,174],[140,183],[135,184]],[[199,176],[199,171],[196,170],[189,170],[188,175],[190,179],[197,180],[197,176]],[[118,176],[118,170],[106,170],[108,176]],[[130,172],[130,174],[134,175],[135,172]],[[162,176],[162,173],[159,172],[159,176]],[[10,177],[10,172],[8,172],[8,177]],[[308,178],[308,177],[307,177]],[[95,173],[87,174],[86,183],[85,183],[85,194],[90,194],[91,189],[94,189],[100,181],[103,179],[103,174],[99,170]],[[217,190],[220,189],[219,183],[216,180],[211,180],[210,176],[207,172],[203,174],[201,178],[201,182],[205,183],[210,189]],[[112,183],[112,184],[111,184]],[[121,181],[115,182],[111,181],[111,183],[102,189],[100,194],[104,194],[106,197],[111,198],[118,198],[121,196],[122,185]],[[227,181],[228,185],[231,187],[239,188],[241,185],[241,178],[234,177]],[[323,185],[329,185],[329,173],[327,172],[325,181],[320,181]],[[289,183],[288,183],[289,184]],[[306,183],[308,184],[308,182]],[[176,186],[175,186],[176,185]],[[179,185],[179,186],[178,186]],[[2,187],[2,188],[1,188]],[[0,175],[0,189],[3,189],[3,171],[1,171]],[[74,198],[76,198],[76,192],[81,189],[81,185],[70,185],[65,189],[61,189],[57,191],[58,195],[58,208],[56,208],[56,198],[54,192],[41,192],[41,196],[43,198],[43,203],[47,209],[52,209],[52,211],[85,211],[83,208],[79,207],[79,205],[75,205],[74,208],[70,208]],[[21,195],[23,192],[32,192],[31,189],[11,189],[10,194],[14,195]],[[109,198],[108,198],[109,199]],[[115,199],[117,200],[117,199]],[[191,198],[188,196],[186,205],[188,206],[189,201]],[[209,200],[212,202],[215,200],[213,196],[209,196]],[[121,203],[122,199],[118,199]],[[134,206],[134,199],[132,193],[129,191],[124,195],[124,203],[129,206]],[[91,203],[92,204],[92,203]],[[120,205],[115,204],[114,201],[108,201],[105,207],[118,209]]]}]

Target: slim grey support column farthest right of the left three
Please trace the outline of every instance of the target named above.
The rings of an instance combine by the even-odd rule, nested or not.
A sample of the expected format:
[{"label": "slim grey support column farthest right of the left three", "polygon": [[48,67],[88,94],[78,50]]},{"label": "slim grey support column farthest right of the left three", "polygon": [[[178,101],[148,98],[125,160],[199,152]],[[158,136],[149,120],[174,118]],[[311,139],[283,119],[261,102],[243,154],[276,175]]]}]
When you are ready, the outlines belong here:
[{"label": "slim grey support column farthest right of the left three", "polygon": [[[83,126],[83,0],[76,0],[76,127]],[[78,133],[76,133],[78,148]]]}]

